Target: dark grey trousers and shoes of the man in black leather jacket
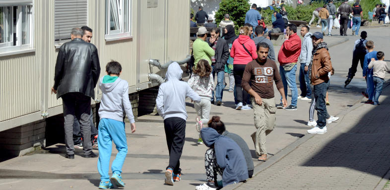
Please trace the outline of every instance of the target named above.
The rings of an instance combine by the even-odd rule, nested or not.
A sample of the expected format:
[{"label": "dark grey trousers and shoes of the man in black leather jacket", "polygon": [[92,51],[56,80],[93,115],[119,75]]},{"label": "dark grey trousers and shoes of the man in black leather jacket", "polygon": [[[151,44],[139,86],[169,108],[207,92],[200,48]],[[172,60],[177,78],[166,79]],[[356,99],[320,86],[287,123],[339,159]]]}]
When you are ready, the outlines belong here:
[{"label": "dark grey trousers and shoes of the man in black leather jacket", "polygon": [[74,154],[73,144],[73,120],[74,115],[80,118],[80,130],[83,137],[84,154],[90,154],[92,151],[91,143],[91,125],[89,123],[89,115],[91,112],[91,97],[81,93],[66,93],[62,95],[64,108],[64,130],[65,130],[65,146],[67,154]]}]

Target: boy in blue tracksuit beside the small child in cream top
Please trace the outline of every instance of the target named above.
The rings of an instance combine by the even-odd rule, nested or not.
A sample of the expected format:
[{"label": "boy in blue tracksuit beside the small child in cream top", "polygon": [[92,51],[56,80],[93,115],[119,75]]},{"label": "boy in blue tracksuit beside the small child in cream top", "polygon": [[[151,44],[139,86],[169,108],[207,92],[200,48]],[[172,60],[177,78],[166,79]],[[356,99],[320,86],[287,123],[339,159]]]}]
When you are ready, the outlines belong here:
[{"label": "boy in blue tracksuit beside the small child in cream top", "polygon": [[377,58],[377,51],[374,51],[374,42],[368,41],[366,43],[366,48],[368,50],[368,53],[364,56],[364,63],[363,63],[363,78],[366,79],[367,83],[367,89],[366,92],[362,92],[362,94],[368,98],[368,100],[365,103],[368,104],[374,104],[373,98],[374,98],[374,71],[373,69],[368,68],[368,64],[371,62],[371,58],[375,58],[375,60],[378,60]]}]

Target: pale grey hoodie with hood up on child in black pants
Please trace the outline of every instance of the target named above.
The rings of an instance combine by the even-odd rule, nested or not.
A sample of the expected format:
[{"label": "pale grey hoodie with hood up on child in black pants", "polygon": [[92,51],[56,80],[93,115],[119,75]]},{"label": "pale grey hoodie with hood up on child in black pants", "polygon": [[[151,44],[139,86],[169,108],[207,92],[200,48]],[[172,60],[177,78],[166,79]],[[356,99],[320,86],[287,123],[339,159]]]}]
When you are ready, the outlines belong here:
[{"label": "pale grey hoodie with hood up on child in black pants", "polygon": [[183,70],[177,62],[168,66],[165,78],[167,82],[160,85],[156,98],[157,110],[164,119],[170,117],[180,117],[187,120],[186,96],[195,102],[200,102],[200,96],[197,95],[191,87],[182,79]]}]

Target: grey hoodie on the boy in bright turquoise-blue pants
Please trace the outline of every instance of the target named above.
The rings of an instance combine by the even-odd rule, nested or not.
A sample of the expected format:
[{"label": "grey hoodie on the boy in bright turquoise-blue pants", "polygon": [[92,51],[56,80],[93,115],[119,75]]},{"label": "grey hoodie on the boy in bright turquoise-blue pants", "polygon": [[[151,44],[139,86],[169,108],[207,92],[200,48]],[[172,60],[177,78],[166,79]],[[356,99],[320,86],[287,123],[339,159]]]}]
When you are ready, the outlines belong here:
[{"label": "grey hoodie on the boy in bright turquoise-blue pants", "polygon": [[134,123],[131,103],[129,99],[129,84],[127,81],[117,78],[112,83],[103,83],[105,77],[100,79],[99,88],[102,90],[102,101],[100,102],[99,117],[100,119],[114,119],[124,121],[124,112],[128,116],[130,123]]}]

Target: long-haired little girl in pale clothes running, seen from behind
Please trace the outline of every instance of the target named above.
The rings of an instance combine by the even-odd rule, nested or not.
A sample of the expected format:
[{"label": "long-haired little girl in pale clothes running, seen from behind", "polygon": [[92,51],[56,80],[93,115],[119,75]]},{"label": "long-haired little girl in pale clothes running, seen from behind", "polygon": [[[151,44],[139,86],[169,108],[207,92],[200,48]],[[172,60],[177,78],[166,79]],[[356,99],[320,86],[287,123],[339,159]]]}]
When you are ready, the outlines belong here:
[{"label": "long-haired little girl in pale clothes running, seen from behind", "polygon": [[197,67],[194,70],[188,85],[198,94],[201,98],[199,103],[194,103],[196,111],[196,124],[195,128],[199,133],[198,144],[203,144],[200,137],[200,130],[203,128],[203,123],[207,123],[210,118],[211,109],[211,91],[214,90],[214,78],[211,75],[211,66],[205,59],[200,59],[197,63]]}]

